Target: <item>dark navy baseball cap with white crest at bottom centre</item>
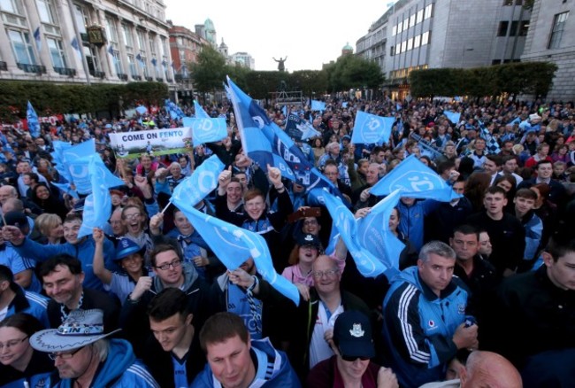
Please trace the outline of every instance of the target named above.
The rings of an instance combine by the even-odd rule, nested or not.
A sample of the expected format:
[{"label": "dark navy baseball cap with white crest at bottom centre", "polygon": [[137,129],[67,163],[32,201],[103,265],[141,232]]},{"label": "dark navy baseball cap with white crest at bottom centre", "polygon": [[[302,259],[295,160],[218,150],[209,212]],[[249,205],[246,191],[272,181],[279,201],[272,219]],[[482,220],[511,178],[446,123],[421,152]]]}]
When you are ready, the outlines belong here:
[{"label": "dark navy baseball cap with white crest at bottom centre", "polygon": [[334,324],[334,342],[339,346],[342,357],[375,356],[372,323],[358,311],[349,310],[338,315]]}]

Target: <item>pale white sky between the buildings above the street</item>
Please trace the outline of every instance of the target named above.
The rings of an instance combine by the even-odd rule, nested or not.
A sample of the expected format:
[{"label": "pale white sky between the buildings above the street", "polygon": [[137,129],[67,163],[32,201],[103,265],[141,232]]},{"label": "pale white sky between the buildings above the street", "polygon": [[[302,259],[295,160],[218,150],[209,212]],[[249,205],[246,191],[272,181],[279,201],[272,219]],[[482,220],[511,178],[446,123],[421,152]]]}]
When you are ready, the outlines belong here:
[{"label": "pale white sky between the buildings above the street", "polygon": [[211,19],[218,44],[228,54],[245,51],[256,70],[277,70],[272,58],[286,58],[288,72],[321,70],[336,60],[387,11],[392,0],[164,0],[166,19],[195,32],[196,24]]}]

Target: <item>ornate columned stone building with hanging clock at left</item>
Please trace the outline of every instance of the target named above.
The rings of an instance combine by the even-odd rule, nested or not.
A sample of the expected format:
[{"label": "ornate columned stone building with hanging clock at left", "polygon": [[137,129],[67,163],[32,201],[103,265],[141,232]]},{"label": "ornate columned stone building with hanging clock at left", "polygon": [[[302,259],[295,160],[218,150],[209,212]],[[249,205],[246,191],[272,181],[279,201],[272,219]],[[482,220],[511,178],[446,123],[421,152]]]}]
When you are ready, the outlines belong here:
[{"label": "ornate columned stone building with hanging clock at left", "polygon": [[0,80],[173,82],[163,0],[2,0]]}]

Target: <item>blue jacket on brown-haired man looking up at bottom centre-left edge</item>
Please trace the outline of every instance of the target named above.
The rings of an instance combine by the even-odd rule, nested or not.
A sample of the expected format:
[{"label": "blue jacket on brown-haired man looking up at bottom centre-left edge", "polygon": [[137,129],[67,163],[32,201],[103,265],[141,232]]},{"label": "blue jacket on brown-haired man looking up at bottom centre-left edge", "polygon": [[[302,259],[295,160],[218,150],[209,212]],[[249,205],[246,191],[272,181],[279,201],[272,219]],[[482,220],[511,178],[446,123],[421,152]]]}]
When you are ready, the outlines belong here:
[{"label": "blue jacket on brown-haired man looking up at bottom centre-left edge", "polygon": [[[286,353],[275,350],[268,338],[251,341],[252,357],[257,357],[256,378],[249,387],[299,388],[302,386],[288,361]],[[192,388],[214,387],[222,385],[211,373],[210,363],[196,377]]]}]

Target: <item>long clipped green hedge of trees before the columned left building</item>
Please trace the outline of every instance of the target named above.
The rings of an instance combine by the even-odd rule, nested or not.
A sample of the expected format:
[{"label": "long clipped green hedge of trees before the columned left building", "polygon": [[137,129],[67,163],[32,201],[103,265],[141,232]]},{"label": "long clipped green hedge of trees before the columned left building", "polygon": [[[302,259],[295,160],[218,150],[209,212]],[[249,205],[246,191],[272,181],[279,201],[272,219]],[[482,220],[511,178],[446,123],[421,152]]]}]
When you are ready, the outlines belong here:
[{"label": "long clipped green hedge of trees before the columned left building", "polygon": [[[54,113],[96,113],[115,109],[122,97],[125,106],[158,104],[168,96],[161,82],[112,84],[56,84],[53,82],[0,81],[0,120],[13,122],[26,117],[27,102],[39,116]],[[12,108],[11,108],[12,106]]]}]

